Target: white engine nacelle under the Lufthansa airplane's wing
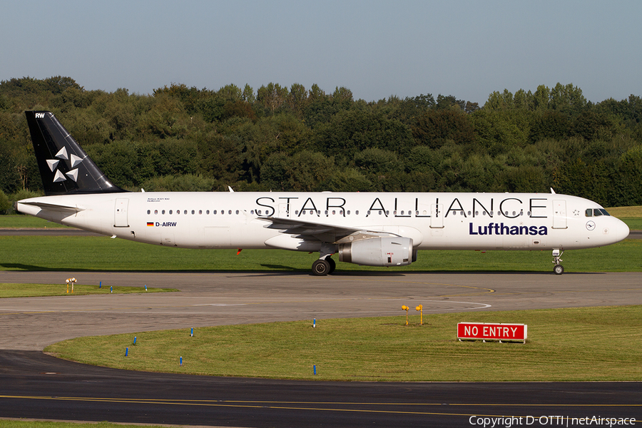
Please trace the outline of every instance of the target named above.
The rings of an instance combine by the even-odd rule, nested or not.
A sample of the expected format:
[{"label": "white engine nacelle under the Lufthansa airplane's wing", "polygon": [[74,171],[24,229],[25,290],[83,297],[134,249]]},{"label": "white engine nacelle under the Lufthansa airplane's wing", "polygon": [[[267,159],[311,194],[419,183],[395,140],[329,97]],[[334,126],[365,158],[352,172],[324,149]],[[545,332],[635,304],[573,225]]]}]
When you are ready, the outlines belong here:
[{"label": "white engine nacelle under the Lufthansa airplane's wing", "polygon": [[404,266],[417,260],[412,239],[397,236],[356,240],[339,245],[339,261],[365,266]]}]

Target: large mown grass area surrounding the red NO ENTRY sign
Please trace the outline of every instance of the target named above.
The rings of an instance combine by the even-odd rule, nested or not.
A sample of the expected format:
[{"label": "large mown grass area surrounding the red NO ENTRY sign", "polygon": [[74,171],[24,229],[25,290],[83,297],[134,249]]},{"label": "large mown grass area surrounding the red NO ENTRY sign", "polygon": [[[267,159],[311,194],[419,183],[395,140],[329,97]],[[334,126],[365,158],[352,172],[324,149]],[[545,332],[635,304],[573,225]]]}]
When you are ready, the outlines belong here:
[{"label": "large mown grass area surrounding the red NO ENTRY sign", "polygon": [[[240,309],[243,310],[243,309]],[[402,312],[402,310],[399,310]],[[46,352],[126,370],[387,382],[642,380],[642,306],[272,322],[80,337]],[[528,325],[522,343],[459,342],[457,322]],[[414,324],[413,324],[414,323]],[[137,337],[133,345],[133,337]],[[128,347],[128,357],[125,348]],[[183,366],[179,366],[183,357]],[[312,372],[317,367],[317,375]]]}]

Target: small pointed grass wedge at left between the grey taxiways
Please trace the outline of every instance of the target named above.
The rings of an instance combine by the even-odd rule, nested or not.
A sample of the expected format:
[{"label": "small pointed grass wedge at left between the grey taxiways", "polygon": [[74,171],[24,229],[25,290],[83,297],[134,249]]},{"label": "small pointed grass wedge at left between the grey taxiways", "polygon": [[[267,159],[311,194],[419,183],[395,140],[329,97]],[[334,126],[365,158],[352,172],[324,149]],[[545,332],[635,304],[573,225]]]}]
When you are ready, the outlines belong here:
[{"label": "small pointed grass wedge at left between the grey taxiways", "polygon": [[143,292],[172,292],[178,291],[173,288],[152,288],[147,291],[143,287],[101,287],[98,285],[74,284],[73,292],[71,285],[66,284],[1,284],[0,298],[3,297],[48,297],[48,296],[84,296],[101,294],[131,294]]}]

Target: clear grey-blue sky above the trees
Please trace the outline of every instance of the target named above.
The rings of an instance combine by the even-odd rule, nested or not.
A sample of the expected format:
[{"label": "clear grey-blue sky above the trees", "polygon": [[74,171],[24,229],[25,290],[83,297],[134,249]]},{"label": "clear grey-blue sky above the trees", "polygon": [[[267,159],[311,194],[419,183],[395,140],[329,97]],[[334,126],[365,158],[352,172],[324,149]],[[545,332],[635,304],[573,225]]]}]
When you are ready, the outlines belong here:
[{"label": "clear grey-blue sky above the trees", "polygon": [[483,105],[507,88],[573,83],[642,96],[642,1],[8,1],[0,80],[86,89],[170,83],[255,91],[317,83],[376,101],[421,93]]}]

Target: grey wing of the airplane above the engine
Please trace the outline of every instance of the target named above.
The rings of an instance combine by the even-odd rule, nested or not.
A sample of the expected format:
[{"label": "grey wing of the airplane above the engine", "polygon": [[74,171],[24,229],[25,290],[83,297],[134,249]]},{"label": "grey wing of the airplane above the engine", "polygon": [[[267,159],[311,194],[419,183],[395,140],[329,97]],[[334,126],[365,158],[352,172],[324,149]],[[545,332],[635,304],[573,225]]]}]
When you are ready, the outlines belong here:
[{"label": "grey wing of the airplane above the engine", "polygon": [[[259,217],[258,220],[270,223],[265,225],[265,228],[278,229],[281,233],[295,235],[295,238],[320,240],[324,243],[343,243],[381,236],[398,236],[382,230],[365,230],[362,228],[327,225],[292,218]],[[350,239],[350,237],[352,237],[352,239]]]}]

